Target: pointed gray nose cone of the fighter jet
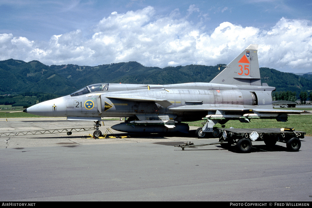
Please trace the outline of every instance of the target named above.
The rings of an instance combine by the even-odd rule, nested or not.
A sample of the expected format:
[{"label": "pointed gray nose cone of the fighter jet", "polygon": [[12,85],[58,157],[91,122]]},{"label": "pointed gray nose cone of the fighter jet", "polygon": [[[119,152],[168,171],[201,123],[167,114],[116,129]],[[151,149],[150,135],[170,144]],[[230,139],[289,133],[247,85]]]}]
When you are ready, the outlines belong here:
[{"label": "pointed gray nose cone of the fighter jet", "polygon": [[37,116],[66,117],[67,107],[65,97],[38,103],[25,109],[24,112]]}]

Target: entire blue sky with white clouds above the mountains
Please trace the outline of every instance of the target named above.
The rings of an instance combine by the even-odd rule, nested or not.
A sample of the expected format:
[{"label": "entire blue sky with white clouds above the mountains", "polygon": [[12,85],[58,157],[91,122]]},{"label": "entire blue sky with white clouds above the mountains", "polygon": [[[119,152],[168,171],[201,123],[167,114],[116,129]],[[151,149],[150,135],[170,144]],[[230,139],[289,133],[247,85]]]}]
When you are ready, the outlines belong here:
[{"label": "entire blue sky with white clouds above the mountains", "polygon": [[312,71],[310,0],[0,0],[0,60],[96,66],[228,64]]}]

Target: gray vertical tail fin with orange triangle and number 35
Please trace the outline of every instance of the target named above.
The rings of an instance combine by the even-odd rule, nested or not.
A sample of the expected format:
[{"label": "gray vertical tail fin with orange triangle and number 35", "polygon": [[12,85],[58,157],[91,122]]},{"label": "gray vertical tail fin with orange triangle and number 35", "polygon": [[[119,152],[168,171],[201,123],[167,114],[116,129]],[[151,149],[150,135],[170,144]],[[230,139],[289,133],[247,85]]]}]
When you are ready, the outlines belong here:
[{"label": "gray vertical tail fin with orange triangle and number 35", "polygon": [[232,85],[261,85],[258,63],[258,45],[249,45],[230,64],[224,66],[210,83]]}]

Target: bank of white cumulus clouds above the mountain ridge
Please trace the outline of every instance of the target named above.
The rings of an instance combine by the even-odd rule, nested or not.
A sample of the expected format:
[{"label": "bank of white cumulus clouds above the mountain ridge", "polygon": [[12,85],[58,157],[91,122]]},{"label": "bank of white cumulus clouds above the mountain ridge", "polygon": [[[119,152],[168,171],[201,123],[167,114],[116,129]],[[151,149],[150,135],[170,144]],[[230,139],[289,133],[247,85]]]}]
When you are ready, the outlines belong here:
[{"label": "bank of white cumulus clouds above the mountain ridge", "polygon": [[[191,5],[188,12],[198,12]],[[287,72],[312,71],[312,23],[281,18],[269,30],[222,22],[205,31],[175,10],[157,16],[153,7],[111,12],[90,31],[77,29],[37,43],[0,34],[0,59],[43,64],[100,65],[137,61],[145,66],[227,64],[246,46],[258,44],[259,64]],[[301,70],[301,71],[300,71]]]}]

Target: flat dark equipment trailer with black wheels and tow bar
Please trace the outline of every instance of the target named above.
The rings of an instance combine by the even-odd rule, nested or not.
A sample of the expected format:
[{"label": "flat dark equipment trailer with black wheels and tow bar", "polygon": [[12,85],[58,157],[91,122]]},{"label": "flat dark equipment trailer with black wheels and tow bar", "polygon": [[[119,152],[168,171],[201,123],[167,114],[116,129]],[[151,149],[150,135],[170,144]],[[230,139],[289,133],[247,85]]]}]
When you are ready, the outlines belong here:
[{"label": "flat dark equipment trailer with black wheels and tow bar", "polygon": [[221,144],[223,148],[230,147],[232,144],[241,153],[249,153],[252,148],[252,141],[264,141],[268,147],[274,147],[276,142],[286,143],[288,151],[299,151],[301,147],[300,139],[303,139],[306,132],[295,131],[293,128],[265,128],[265,129],[234,129],[234,128],[218,128],[221,134],[219,142],[207,144],[194,144],[187,142],[179,144],[182,150],[187,147],[198,147],[205,145]]}]

